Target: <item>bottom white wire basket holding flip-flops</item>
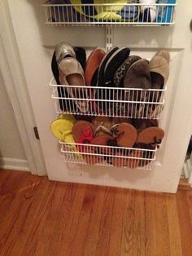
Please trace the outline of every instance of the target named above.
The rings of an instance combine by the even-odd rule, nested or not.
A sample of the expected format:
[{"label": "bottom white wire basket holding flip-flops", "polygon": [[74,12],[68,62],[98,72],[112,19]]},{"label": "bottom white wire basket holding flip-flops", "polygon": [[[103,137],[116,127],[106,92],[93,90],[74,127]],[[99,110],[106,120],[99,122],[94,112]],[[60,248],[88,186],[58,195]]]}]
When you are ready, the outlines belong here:
[{"label": "bottom white wire basket holding flip-flops", "polygon": [[65,161],[70,163],[144,170],[152,170],[155,163],[156,148],[120,148],[81,143],[59,143],[61,143],[61,152]]}]

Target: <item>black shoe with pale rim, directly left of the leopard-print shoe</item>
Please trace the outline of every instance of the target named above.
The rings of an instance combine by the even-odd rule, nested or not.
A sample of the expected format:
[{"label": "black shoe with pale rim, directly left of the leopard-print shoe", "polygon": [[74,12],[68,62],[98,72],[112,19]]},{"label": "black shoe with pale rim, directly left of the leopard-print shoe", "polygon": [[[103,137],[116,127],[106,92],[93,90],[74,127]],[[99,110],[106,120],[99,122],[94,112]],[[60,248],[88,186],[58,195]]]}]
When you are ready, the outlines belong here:
[{"label": "black shoe with pale rim, directly left of the leopard-print shoe", "polygon": [[113,77],[116,70],[129,57],[130,49],[128,47],[121,47],[111,55],[104,69],[105,86],[113,87]]}]

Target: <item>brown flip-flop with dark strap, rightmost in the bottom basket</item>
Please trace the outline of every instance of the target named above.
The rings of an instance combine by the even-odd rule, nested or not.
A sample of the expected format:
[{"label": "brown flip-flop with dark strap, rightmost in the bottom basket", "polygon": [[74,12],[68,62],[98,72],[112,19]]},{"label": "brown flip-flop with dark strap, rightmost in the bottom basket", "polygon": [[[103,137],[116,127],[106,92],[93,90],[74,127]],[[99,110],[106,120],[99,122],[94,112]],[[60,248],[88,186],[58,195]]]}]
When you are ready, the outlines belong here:
[{"label": "brown flip-flop with dark strap, rightmost in the bottom basket", "polygon": [[152,148],[158,146],[164,139],[164,130],[159,127],[148,127],[137,136],[136,143],[146,143]]}]

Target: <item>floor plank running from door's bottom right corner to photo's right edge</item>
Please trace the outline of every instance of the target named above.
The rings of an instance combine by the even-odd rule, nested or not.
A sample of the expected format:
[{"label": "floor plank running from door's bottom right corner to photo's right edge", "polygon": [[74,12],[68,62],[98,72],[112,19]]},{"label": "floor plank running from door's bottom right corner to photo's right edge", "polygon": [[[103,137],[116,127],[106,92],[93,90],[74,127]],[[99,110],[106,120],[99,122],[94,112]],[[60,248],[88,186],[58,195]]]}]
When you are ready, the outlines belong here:
[{"label": "floor plank running from door's bottom right corner to photo's right edge", "polygon": [[179,214],[181,245],[183,256],[192,255],[192,226],[190,224],[190,211],[187,201],[187,191],[177,192],[177,211]]}]

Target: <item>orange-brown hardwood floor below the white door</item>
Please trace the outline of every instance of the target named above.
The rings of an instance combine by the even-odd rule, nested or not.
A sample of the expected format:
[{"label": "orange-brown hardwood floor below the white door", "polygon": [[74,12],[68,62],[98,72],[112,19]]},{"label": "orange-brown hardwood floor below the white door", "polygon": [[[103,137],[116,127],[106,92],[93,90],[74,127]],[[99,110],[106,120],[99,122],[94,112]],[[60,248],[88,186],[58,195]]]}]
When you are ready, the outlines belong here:
[{"label": "orange-brown hardwood floor below the white door", "polygon": [[0,255],[190,256],[192,191],[138,192],[0,170]]}]

